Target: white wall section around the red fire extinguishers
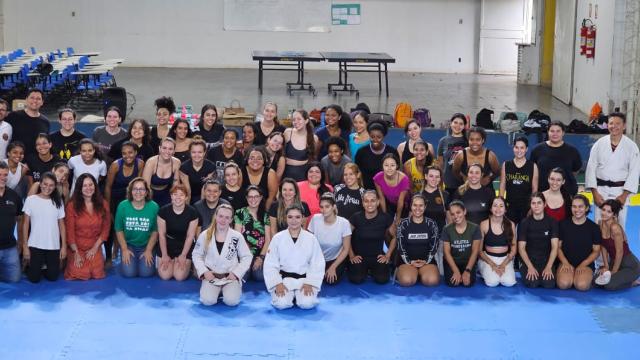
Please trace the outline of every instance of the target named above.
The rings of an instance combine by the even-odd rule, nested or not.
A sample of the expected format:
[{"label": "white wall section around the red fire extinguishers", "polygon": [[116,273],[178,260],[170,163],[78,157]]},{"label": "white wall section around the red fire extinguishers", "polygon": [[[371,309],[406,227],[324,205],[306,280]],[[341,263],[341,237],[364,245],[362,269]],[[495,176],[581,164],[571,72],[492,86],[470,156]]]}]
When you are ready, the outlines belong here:
[{"label": "white wall section around the red fire extinguishers", "polygon": [[[578,39],[575,45],[573,67],[573,106],[587,114],[596,101],[607,111],[611,93],[615,18],[615,1],[578,0],[576,36],[580,34],[582,19],[589,17],[589,4],[593,4],[592,21],[597,27],[595,58],[587,59],[580,55],[580,41]],[[594,18],[596,5],[598,6],[597,19]]]}]

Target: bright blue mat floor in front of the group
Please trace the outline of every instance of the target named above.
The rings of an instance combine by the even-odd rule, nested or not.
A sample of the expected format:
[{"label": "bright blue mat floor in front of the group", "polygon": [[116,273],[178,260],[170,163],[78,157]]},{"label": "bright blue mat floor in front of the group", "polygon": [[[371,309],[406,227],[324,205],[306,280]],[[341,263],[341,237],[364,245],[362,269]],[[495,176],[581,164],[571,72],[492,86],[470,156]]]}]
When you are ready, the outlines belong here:
[{"label": "bright blue mat floor in front of the group", "polygon": [[[640,207],[629,214],[640,253]],[[261,283],[205,307],[199,281],[0,284],[5,359],[636,359],[640,288],[619,292],[325,286],[310,311],[271,307]]]}]

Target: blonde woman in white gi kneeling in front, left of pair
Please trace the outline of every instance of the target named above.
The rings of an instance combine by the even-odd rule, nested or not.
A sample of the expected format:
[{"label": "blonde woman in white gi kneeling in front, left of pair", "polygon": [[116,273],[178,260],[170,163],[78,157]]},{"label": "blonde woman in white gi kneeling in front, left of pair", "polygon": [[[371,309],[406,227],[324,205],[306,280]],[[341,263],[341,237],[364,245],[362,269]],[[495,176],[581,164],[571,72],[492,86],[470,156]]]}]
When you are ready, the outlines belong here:
[{"label": "blonde woman in white gi kneeling in front, left of pair", "polygon": [[251,251],[242,234],[230,228],[233,208],[220,204],[211,225],[198,237],[193,249],[193,265],[202,280],[200,302],[214,305],[222,291],[222,301],[228,306],[240,303],[241,279],[249,270]]}]

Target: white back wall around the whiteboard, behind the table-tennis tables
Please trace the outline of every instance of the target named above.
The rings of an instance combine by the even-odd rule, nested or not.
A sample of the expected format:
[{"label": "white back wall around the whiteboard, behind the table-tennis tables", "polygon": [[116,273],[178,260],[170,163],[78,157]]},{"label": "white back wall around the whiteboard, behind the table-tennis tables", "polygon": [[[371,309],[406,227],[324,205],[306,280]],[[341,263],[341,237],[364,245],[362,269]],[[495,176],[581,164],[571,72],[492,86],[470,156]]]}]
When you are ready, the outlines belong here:
[{"label": "white back wall around the whiteboard, behind the table-tennis tables", "polygon": [[349,2],[361,25],[284,33],[224,31],[221,0],[7,0],[4,44],[99,50],[128,66],[255,68],[253,49],[334,50],[387,52],[395,71],[476,71],[479,1],[336,1]]}]

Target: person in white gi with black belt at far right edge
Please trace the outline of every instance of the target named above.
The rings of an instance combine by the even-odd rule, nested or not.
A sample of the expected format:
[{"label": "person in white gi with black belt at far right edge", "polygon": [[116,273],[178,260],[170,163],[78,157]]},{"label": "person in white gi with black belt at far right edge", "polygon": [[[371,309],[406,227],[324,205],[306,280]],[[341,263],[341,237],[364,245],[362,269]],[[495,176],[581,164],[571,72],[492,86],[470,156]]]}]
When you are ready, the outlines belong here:
[{"label": "person in white gi with black belt at far right edge", "polygon": [[638,145],[624,135],[626,116],[609,114],[609,135],[603,136],[591,148],[585,173],[585,188],[590,189],[596,203],[596,221],[605,200],[617,199],[623,205],[618,223],[624,229],[629,195],[638,191],[640,156]]}]

